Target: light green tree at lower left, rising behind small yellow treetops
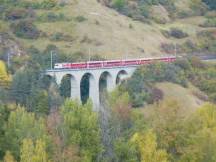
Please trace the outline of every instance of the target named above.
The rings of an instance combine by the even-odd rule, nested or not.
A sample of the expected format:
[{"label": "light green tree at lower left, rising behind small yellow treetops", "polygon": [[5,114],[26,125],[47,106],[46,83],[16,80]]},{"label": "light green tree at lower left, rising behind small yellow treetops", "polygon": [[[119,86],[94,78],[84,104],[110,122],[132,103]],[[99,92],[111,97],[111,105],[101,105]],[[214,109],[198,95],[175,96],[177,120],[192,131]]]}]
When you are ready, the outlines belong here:
[{"label": "light green tree at lower left, rising behind small yellow treetops", "polygon": [[5,131],[5,150],[10,150],[16,159],[19,157],[22,140],[30,138],[33,141],[43,139],[49,143],[45,121],[38,120],[34,113],[28,113],[24,108],[18,107],[10,113]]}]

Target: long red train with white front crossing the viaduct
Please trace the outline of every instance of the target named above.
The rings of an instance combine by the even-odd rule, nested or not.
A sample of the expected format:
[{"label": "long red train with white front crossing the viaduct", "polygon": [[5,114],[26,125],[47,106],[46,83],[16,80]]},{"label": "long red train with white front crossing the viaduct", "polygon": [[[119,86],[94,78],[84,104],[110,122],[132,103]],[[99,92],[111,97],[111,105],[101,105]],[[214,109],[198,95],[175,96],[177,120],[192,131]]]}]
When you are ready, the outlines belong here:
[{"label": "long red train with white front crossing the viaduct", "polygon": [[89,61],[78,63],[56,63],[54,69],[93,69],[106,67],[139,66],[150,64],[155,61],[174,62],[176,57],[142,58],[131,60],[109,60],[109,61]]}]

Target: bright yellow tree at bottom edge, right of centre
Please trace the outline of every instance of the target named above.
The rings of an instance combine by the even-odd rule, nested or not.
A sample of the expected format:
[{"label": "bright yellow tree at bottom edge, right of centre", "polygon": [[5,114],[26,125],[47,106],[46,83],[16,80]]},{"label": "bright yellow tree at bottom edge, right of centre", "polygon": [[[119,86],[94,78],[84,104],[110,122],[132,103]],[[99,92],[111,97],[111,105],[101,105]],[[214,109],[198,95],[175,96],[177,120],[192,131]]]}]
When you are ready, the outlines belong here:
[{"label": "bright yellow tree at bottom edge, right of centre", "polygon": [[137,145],[141,162],[167,162],[166,151],[157,149],[156,135],[152,131],[135,133],[131,141]]}]

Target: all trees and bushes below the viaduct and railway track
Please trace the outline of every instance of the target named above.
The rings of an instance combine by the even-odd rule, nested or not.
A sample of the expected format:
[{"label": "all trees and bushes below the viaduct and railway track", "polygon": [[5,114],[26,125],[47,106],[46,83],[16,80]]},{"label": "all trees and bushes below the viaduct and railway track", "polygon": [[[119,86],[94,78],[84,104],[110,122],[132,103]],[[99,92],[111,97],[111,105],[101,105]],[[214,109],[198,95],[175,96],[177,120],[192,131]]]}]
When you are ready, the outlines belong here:
[{"label": "all trees and bushes below the viaduct and railway track", "polygon": [[[216,125],[208,122],[215,120],[214,64],[190,58],[140,67],[105,97],[97,113],[91,101],[80,105],[68,100],[64,89],[69,82],[61,88],[54,80],[39,77],[43,62],[30,60],[9,87],[1,86],[2,160],[214,161]],[[164,81],[184,87],[192,83],[203,91],[193,95],[212,103],[194,110],[173,98],[164,99],[156,86]]]}]

